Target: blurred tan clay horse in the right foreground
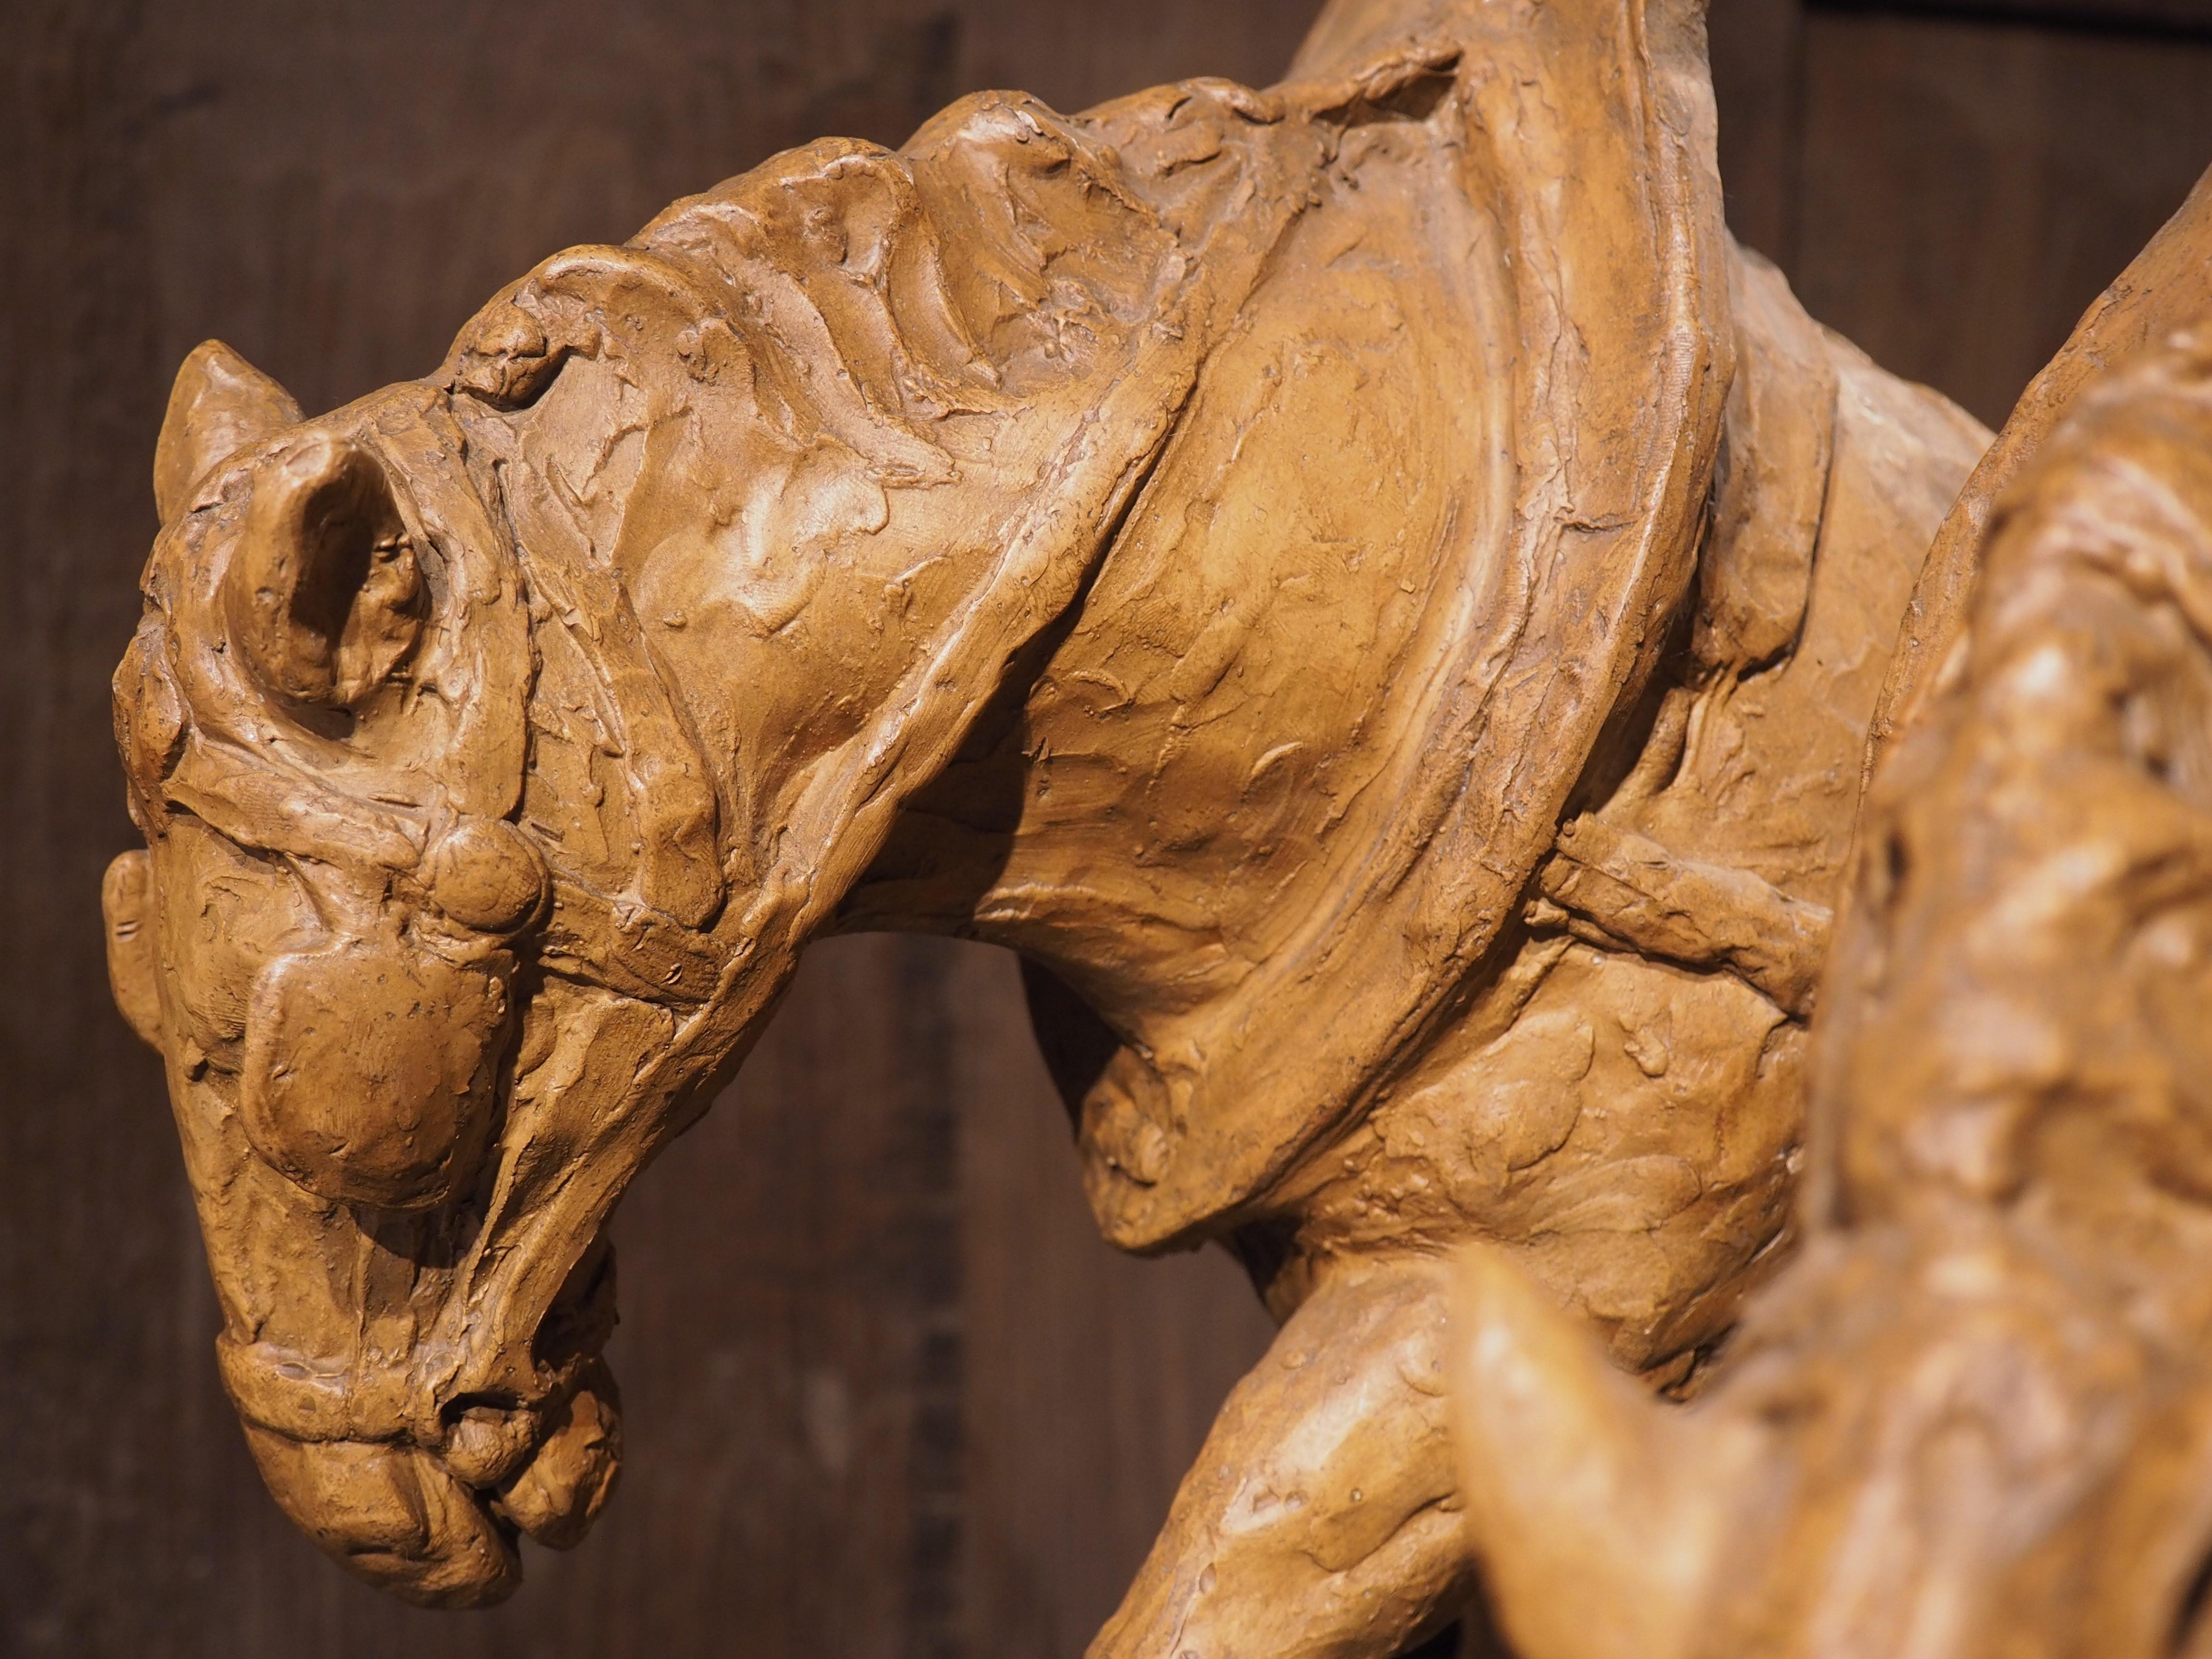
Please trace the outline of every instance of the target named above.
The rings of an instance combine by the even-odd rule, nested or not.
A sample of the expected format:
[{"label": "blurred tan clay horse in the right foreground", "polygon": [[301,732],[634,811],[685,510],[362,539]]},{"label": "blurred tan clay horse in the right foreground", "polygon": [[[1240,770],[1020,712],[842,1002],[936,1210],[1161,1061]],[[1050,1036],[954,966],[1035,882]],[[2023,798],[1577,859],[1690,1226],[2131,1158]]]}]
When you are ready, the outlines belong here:
[{"label": "blurred tan clay horse in the right foreground", "polygon": [[2212,1652],[2212,184],[1975,471],[1823,980],[1801,1259],[1686,1411],[1460,1265],[1524,1659]]}]

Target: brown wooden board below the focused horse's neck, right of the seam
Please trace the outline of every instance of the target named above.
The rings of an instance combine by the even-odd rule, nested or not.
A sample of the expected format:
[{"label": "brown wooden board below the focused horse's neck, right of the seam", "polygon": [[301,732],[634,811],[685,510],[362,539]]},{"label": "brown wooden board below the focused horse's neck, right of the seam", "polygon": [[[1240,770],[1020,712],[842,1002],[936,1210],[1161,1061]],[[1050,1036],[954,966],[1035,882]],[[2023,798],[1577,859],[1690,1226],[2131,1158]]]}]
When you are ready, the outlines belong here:
[{"label": "brown wooden board below the focused horse's neck, right of the seam", "polygon": [[1135,1261],[1084,1208],[1015,962],[951,958],[964,1102],[971,1655],[1075,1659],[1121,1599],[1214,1407],[1274,1334],[1223,1252]]}]

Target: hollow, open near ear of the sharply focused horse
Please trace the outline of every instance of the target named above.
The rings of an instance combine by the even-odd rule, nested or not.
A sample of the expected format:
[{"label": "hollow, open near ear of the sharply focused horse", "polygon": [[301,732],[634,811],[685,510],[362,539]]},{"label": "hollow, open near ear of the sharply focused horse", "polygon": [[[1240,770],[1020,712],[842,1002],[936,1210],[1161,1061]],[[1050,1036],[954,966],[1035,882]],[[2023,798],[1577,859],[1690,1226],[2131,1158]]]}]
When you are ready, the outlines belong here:
[{"label": "hollow, open near ear of the sharply focused horse", "polygon": [[257,467],[223,597],[230,637],[281,697],[352,708],[383,686],[427,606],[376,456],[316,431]]}]

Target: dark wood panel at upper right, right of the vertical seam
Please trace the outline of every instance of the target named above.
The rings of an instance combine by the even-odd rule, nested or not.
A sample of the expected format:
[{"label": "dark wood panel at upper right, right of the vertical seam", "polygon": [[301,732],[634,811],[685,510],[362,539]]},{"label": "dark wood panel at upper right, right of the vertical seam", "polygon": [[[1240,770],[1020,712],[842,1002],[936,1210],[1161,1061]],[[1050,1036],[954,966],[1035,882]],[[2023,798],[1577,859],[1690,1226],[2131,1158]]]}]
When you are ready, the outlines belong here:
[{"label": "dark wood panel at upper right, right of the vertical seam", "polygon": [[2212,164],[2212,42],[1805,18],[1798,296],[2000,425]]}]

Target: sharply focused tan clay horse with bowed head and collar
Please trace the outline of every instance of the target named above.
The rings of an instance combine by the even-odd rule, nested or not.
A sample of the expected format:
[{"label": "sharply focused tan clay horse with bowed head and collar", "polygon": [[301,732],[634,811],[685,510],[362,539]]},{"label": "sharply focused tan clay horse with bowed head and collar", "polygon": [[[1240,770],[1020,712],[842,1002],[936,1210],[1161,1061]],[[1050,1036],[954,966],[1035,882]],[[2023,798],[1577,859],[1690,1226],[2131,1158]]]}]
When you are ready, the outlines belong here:
[{"label": "sharply focused tan clay horse with bowed head and collar", "polygon": [[1984,442],[1730,243],[1681,0],[823,142],[314,420],[201,347],[111,960],[270,1491],[431,1604],[575,1542],[626,1181],[810,938],[940,929],[1031,964],[1106,1234],[1283,1321],[1093,1652],[1400,1652],[1475,1588],[1438,1259],[1688,1394],[1783,1254]]}]

